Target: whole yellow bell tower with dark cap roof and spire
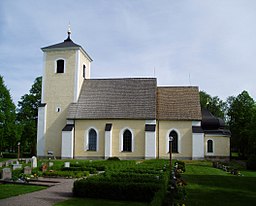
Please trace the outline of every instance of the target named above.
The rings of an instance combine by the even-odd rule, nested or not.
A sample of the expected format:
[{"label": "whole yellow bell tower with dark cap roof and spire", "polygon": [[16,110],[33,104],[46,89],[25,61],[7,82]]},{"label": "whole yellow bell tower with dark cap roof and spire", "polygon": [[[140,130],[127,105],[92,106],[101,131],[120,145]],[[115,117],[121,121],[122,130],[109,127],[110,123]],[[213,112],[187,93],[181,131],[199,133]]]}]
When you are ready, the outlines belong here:
[{"label": "whole yellow bell tower with dark cap roof and spire", "polygon": [[37,156],[60,157],[62,129],[70,103],[77,102],[84,79],[90,78],[92,59],[68,37],[59,44],[43,47],[43,83],[38,109]]}]

